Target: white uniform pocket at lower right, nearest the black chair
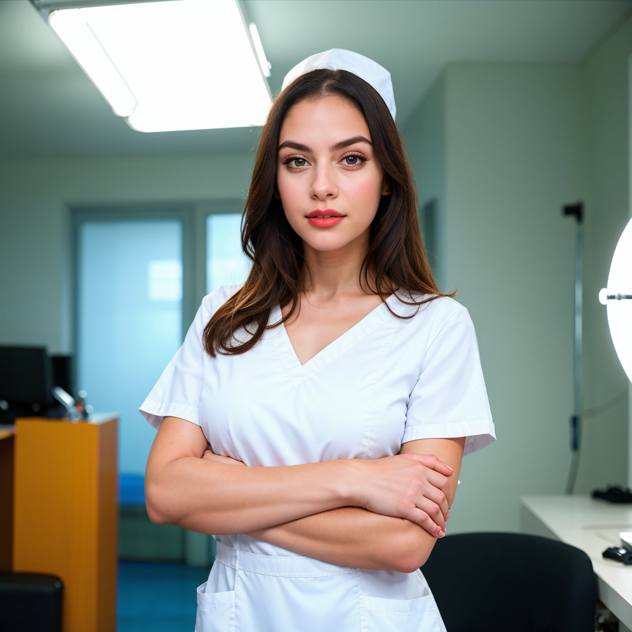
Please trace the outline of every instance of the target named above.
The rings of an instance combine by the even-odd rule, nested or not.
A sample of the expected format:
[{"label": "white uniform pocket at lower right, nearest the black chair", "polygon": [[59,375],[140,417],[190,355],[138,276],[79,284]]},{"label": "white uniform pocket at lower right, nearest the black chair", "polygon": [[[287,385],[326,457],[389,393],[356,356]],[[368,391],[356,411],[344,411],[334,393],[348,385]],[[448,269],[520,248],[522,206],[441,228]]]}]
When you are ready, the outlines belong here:
[{"label": "white uniform pocket at lower right, nearest the black chair", "polygon": [[432,595],[416,599],[362,599],[362,632],[440,632]]}]

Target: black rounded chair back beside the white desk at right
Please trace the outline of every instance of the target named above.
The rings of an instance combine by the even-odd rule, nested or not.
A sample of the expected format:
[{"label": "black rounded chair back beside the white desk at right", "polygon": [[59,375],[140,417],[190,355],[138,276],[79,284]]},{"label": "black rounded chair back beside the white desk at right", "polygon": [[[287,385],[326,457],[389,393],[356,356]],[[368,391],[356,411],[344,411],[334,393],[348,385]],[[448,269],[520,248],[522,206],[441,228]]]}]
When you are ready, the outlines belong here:
[{"label": "black rounded chair back beside the white desk at right", "polygon": [[594,632],[597,578],[585,552],[524,533],[437,540],[422,573],[447,632]]}]

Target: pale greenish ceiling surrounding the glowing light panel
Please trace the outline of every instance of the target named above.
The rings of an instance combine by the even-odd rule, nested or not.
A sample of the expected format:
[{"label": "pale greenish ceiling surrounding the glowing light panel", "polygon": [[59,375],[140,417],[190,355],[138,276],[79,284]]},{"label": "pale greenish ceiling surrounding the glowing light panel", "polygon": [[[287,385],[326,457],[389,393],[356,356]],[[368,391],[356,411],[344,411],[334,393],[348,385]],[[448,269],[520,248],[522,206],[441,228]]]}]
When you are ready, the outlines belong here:
[{"label": "pale greenish ceiling surrounding the glowing light panel", "polygon": [[[446,64],[576,64],[626,18],[632,0],[243,0],[242,6],[272,64],[272,94],[301,59],[350,49],[391,72],[401,128]],[[28,0],[0,0],[0,158],[242,153],[258,131],[132,130]]]}]

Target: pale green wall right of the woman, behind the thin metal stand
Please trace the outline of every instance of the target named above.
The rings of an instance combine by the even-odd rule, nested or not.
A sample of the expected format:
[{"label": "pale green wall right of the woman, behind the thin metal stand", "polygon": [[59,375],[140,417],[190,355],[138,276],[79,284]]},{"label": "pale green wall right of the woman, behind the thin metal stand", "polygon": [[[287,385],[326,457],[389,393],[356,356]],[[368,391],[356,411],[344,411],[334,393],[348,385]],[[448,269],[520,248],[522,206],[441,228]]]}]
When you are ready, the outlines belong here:
[{"label": "pale green wall right of the woman, behind the thin metal stand", "polygon": [[[564,493],[575,228],[563,204],[586,212],[583,406],[628,387],[597,293],[629,216],[631,53],[632,17],[578,65],[451,64],[404,128],[420,198],[443,188],[444,288],[470,310],[497,428],[463,463],[453,533],[518,530],[521,495]],[[627,425],[625,400],[585,420],[577,493],[627,482]]]}]

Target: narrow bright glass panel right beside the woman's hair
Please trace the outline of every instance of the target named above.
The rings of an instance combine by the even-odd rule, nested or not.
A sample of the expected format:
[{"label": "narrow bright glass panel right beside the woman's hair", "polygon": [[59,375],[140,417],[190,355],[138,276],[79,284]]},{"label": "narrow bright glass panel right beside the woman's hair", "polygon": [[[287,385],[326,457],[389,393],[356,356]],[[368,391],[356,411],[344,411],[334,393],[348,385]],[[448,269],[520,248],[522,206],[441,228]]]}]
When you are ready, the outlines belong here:
[{"label": "narrow bright glass panel right beside the woman's hair", "polygon": [[241,213],[207,217],[206,257],[207,293],[246,280],[252,264],[241,250]]}]

